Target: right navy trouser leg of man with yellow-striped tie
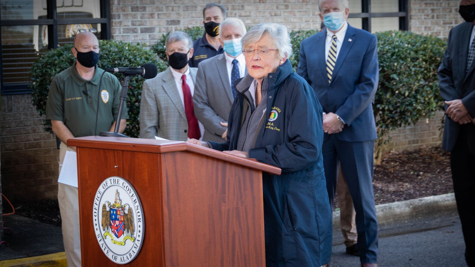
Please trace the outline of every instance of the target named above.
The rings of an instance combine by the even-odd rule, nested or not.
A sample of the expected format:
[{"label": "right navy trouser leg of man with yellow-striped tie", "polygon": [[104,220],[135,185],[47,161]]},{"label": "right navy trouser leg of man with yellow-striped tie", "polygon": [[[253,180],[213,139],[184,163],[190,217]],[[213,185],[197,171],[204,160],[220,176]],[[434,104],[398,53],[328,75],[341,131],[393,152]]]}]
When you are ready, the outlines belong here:
[{"label": "right navy trouser leg of man with yellow-striped tie", "polygon": [[372,183],[374,141],[339,141],[335,147],[356,210],[360,261],[377,263],[378,220]]}]

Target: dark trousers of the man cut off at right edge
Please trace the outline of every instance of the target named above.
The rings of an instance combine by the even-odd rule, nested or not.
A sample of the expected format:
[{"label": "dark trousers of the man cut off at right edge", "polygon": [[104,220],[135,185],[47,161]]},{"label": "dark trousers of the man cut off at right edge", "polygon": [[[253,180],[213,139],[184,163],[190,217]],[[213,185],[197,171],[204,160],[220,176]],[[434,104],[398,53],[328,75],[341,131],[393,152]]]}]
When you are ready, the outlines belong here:
[{"label": "dark trousers of the man cut off at right edge", "polygon": [[[465,125],[464,125],[465,126]],[[462,223],[468,266],[475,267],[475,155],[468,149],[466,127],[462,126],[456,145],[450,154],[455,200]]]}]

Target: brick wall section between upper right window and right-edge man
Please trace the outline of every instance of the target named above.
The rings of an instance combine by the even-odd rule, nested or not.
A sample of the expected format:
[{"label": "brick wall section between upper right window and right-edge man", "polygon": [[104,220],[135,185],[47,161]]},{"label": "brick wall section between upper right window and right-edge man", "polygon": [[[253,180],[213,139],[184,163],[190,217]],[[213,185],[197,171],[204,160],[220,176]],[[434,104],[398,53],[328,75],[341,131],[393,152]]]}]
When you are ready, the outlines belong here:
[{"label": "brick wall section between upper right window and right-edge man", "polygon": [[447,37],[464,20],[458,14],[460,0],[409,0],[409,30]]}]

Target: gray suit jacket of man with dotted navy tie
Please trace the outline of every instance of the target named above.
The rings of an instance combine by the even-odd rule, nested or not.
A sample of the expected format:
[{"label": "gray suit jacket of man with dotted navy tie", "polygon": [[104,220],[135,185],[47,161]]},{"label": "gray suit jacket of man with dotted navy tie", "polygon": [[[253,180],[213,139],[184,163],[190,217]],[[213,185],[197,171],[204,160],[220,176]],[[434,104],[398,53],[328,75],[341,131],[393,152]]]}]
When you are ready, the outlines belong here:
[{"label": "gray suit jacket of man with dotted navy tie", "polygon": [[221,137],[226,127],[219,122],[228,122],[234,97],[224,53],[199,63],[195,85],[193,105],[196,117],[205,127],[203,141],[226,141]]}]

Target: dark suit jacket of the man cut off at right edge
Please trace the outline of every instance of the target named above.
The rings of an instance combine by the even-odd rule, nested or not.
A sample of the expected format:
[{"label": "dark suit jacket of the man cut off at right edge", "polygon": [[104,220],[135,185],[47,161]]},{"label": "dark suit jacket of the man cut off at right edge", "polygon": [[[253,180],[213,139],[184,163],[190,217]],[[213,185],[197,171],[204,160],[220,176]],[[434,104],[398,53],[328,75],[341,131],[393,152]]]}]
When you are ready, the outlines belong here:
[{"label": "dark suit jacket of the man cut off at right edge", "polygon": [[[472,34],[472,23],[463,22],[450,30],[447,50],[438,69],[440,94],[445,101],[462,99],[468,114],[475,117],[475,63],[466,75],[468,46]],[[446,105],[447,109],[447,105]],[[475,153],[475,125],[468,123],[468,146]],[[454,149],[461,125],[447,115],[444,124],[442,148],[451,152]]]}]

